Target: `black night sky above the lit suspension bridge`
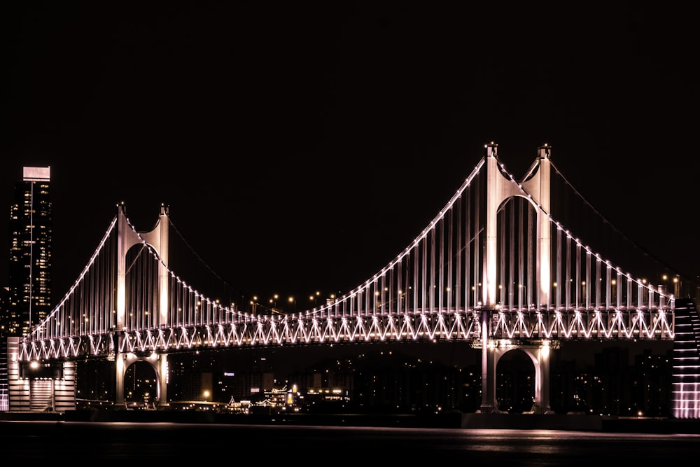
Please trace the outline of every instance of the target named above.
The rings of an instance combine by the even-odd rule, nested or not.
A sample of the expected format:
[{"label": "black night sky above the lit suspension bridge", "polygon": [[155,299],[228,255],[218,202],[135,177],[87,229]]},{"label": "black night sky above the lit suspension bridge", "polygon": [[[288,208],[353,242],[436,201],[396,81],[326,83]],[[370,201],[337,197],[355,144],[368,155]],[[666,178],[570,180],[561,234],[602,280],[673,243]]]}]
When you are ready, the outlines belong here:
[{"label": "black night sky above the lit suspension bridge", "polygon": [[121,201],[139,230],[168,204],[246,294],[349,291],[489,141],[516,176],[549,144],[617,228],[700,274],[696,36],[680,7],[13,3],[0,207],[22,166],[51,166],[56,300]]}]

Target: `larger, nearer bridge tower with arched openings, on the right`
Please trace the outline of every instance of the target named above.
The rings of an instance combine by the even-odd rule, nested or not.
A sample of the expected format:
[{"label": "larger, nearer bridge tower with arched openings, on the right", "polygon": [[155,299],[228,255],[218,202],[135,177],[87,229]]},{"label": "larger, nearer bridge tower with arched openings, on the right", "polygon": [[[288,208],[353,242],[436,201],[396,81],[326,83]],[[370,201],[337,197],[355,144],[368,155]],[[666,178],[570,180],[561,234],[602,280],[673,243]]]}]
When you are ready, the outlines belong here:
[{"label": "larger, nearer bridge tower with arched openings, on the right", "polygon": [[[550,148],[541,146],[538,148],[538,158],[533,163],[528,178],[521,182],[521,186],[531,197],[524,195],[521,186],[507,178],[498,166],[498,145],[486,145],[486,240],[485,261],[483,277],[486,279],[482,289],[482,404],[479,412],[489,413],[497,410],[496,403],[496,366],[500,357],[514,348],[524,351],[535,366],[535,413],[549,413],[549,350],[550,342],[528,342],[525,344],[513,344],[512,342],[499,342],[489,337],[489,323],[494,312],[498,312],[498,209],[512,197],[524,197],[535,208],[537,223],[535,230],[535,284],[540,304],[549,303],[551,289],[551,272],[549,260],[549,243],[551,242],[549,231],[549,219],[545,214],[550,211]],[[541,208],[541,209],[540,209]]]}]

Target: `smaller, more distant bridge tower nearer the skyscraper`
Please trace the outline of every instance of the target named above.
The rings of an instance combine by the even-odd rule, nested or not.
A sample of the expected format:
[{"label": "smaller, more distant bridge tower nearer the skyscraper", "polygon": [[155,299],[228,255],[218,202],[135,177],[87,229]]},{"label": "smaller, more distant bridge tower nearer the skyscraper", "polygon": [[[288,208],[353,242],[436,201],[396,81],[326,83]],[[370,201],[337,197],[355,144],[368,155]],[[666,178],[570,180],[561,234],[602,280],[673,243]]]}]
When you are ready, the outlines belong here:
[{"label": "smaller, more distant bridge tower nearer the skyscraper", "polygon": [[[148,232],[134,232],[130,227],[124,211],[124,205],[118,204],[118,245],[117,245],[117,317],[114,326],[114,338],[117,339],[115,348],[121,349],[121,340],[125,338],[125,313],[126,313],[126,277],[127,277],[127,252],[134,245],[141,245],[144,242],[151,245],[158,251],[160,263],[158,264],[158,324],[167,325],[168,321],[168,231],[169,218],[168,209],[165,205],[160,207],[160,215],[155,227]],[[146,361],[150,363],[157,379],[156,398],[159,406],[166,406],[167,403],[167,354],[157,354],[155,351],[150,356],[138,356],[132,353],[117,351],[116,362],[116,400],[115,407],[125,406],[124,400],[124,377],[129,365],[136,361]]]}]

